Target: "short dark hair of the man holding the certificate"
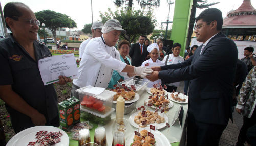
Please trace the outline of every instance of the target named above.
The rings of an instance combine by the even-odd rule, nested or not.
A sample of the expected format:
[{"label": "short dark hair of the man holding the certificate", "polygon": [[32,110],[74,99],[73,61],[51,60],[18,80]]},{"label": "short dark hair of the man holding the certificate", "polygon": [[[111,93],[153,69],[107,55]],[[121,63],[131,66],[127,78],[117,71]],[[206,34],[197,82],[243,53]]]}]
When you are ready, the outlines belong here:
[{"label": "short dark hair of the man holding the certificate", "polygon": [[[5,5],[4,7],[4,17],[7,18],[12,18],[13,20],[18,20],[19,17],[22,16],[22,13],[18,9],[18,5],[24,6],[28,9],[30,9],[27,5],[21,3],[21,2],[9,2]],[[6,23],[6,22],[5,22]],[[6,27],[11,31],[11,28],[8,26],[6,23]]]}]

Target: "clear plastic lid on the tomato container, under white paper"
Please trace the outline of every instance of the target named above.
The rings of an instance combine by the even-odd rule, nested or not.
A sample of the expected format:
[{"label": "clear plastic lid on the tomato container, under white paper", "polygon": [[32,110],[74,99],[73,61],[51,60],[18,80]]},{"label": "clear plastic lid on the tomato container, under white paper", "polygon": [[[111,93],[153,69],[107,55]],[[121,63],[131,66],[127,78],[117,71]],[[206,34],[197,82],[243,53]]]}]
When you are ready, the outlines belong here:
[{"label": "clear plastic lid on the tomato container, under white paper", "polygon": [[81,93],[81,94],[86,94],[86,95],[93,96],[94,98],[100,99],[102,101],[108,101],[108,100],[110,100],[116,94],[116,92],[109,91],[109,90],[104,90],[101,94],[95,95],[95,94],[84,92],[82,90],[84,88],[87,88],[87,87],[82,87],[80,89],[77,89],[76,92]]}]

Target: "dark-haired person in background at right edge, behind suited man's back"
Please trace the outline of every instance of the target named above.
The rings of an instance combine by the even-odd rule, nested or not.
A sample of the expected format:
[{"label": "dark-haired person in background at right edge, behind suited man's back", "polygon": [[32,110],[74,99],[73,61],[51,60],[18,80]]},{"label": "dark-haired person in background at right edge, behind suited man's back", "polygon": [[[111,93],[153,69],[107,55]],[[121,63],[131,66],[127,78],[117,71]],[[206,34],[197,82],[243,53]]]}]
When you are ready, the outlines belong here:
[{"label": "dark-haired person in background at right edge, behind suited man's back", "polygon": [[244,56],[245,57],[241,59],[247,65],[248,72],[256,64],[256,57],[253,57],[253,51],[254,51],[253,47],[244,48]]}]

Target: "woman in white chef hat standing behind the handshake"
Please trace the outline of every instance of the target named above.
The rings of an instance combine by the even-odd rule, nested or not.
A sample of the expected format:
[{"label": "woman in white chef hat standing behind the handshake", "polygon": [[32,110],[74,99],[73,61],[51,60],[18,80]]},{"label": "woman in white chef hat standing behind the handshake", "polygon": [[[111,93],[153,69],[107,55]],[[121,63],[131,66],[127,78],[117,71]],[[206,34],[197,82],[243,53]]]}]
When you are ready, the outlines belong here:
[{"label": "woman in white chef hat standing behind the handshake", "polygon": [[[148,68],[153,66],[163,66],[164,63],[160,61],[159,58],[159,47],[156,43],[153,43],[147,47],[147,51],[150,53],[150,59],[144,61],[141,66],[148,66]],[[147,79],[146,79],[147,80]],[[147,84],[148,88],[152,88],[154,84],[162,84],[161,80],[158,79],[154,82],[149,82]]]}]

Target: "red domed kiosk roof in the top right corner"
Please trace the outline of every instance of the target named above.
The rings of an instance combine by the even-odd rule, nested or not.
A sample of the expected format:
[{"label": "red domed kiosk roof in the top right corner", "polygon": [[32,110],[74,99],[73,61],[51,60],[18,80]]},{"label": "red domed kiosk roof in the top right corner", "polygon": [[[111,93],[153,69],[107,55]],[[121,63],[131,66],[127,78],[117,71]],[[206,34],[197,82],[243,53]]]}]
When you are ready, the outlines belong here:
[{"label": "red domed kiosk roof in the top right corner", "polygon": [[233,40],[256,41],[256,9],[250,0],[244,0],[237,10],[227,14],[222,32]]}]

